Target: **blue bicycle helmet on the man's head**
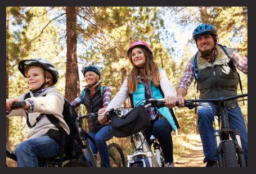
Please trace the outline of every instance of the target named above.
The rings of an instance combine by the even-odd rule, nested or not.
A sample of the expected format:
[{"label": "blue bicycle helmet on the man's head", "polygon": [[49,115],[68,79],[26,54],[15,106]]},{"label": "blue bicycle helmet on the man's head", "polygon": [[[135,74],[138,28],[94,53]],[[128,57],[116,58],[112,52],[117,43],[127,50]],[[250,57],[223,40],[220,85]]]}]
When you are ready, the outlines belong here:
[{"label": "blue bicycle helmet on the man's head", "polygon": [[197,38],[200,36],[210,34],[210,35],[217,35],[217,30],[214,28],[211,24],[201,24],[196,27],[196,29],[193,32],[193,39],[196,41]]}]

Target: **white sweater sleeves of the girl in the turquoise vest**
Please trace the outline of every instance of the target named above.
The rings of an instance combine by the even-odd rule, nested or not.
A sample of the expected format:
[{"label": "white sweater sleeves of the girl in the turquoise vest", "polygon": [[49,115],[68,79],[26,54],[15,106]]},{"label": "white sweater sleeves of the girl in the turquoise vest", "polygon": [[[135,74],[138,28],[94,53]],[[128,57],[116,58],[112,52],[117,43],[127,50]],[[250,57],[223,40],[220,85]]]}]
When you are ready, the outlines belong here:
[{"label": "white sweater sleeves of the girl in the turquoise vest", "polygon": [[[168,96],[176,96],[175,90],[173,88],[173,84],[169,81],[166,72],[162,69],[159,72],[159,74],[160,74],[160,86],[161,86],[161,89],[163,90],[164,97],[167,98]],[[123,104],[125,100],[129,97],[127,82],[128,82],[128,79],[126,78],[119,92],[110,101],[109,106],[107,106],[106,108],[106,111],[109,111],[109,109],[112,109],[112,108],[120,107],[121,104]]]}]

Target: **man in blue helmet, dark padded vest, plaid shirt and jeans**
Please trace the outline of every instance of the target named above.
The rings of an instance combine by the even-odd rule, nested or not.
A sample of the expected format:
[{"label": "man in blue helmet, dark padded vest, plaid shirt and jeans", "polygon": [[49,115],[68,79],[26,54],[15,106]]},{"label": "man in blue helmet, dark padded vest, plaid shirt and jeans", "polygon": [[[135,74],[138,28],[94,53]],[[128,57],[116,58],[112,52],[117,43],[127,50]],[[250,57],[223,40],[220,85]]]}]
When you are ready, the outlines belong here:
[{"label": "man in blue helmet, dark padded vest, plaid shirt and jeans", "polygon": [[[176,88],[179,106],[184,106],[185,95],[194,77],[200,91],[200,99],[230,97],[237,95],[239,77],[231,65],[247,74],[247,58],[233,48],[217,44],[217,31],[210,24],[201,24],[193,32],[198,52],[188,61],[183,76]],[[231,63],[231,64],[230,64]],[[195,67],[195,68],[194,68]],[[209,103],[209,102],[204,102]],[[228,103],[227,103],[228,104]],[[217,154],[214,140],[213,121],[217,108],[198,108],[198,128],[203,143],[206,167],[217,167]],[[244,117],[237,103],[228,107],[232,129],[239,129],[242,148],[247,164],[247,131]]]}]

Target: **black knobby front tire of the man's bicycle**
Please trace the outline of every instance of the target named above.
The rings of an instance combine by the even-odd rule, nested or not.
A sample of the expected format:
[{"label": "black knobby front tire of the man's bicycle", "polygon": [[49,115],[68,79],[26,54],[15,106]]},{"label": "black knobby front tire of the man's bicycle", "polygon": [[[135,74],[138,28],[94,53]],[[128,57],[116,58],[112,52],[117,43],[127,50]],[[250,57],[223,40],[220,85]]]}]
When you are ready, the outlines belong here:
[{"label": "black knobby front tire of the man's bicycle", "polygon": [[236,146],[233,141],[223,143],[224,167],[239,167],[236,155]]}]

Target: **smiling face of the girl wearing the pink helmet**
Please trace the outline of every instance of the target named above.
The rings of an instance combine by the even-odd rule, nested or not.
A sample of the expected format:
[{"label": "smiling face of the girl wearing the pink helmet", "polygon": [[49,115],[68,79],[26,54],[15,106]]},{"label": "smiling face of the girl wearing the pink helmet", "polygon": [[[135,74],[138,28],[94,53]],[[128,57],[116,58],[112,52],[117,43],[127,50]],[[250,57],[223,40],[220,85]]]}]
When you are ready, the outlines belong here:
[{"label": "smiling face of the girl wearing the pink helmet", "polygon": [[133,48],[132,62],[135,66],[143,67],[146,64],[146,57],[141,48]]}]

